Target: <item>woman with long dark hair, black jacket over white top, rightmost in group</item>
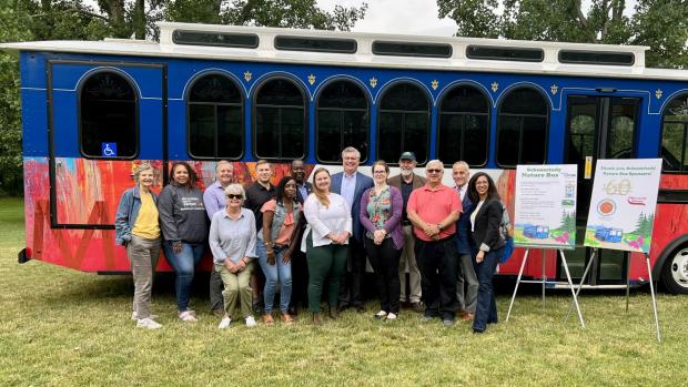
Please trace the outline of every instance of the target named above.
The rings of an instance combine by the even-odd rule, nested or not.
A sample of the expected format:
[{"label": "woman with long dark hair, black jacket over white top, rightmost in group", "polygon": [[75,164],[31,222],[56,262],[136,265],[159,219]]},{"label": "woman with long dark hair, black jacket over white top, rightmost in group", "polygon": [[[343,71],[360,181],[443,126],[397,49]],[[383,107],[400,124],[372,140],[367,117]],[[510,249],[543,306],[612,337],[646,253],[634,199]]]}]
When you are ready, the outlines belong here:
[{"label": "woman with long dark hair, black jacket over white top, rightmost in group", "polygon": [[468,195],[474,203],[471,231],[478,252],[475,256],[478,277],[478,299],[473,320],[473,332],[483,333],[487,324],[497,323],[497,304],[493,291],[493,276],[504,248],[499,232],[502,201],[488,174],[476,173],[468,182]]}]

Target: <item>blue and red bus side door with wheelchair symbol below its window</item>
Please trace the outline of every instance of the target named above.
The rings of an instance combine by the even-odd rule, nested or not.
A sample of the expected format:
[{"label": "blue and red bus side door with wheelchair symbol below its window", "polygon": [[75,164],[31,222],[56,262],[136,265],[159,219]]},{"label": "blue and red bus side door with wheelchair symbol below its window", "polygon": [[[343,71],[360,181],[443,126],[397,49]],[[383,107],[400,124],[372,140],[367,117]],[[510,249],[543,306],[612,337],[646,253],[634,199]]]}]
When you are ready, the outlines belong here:
[{"label": "blue and red bus side door with wheelchair symbol below its window", "polygon": [[136,161],[162,163],[163,72],[134,61],[48,61],[53,228],[114,228]]}]

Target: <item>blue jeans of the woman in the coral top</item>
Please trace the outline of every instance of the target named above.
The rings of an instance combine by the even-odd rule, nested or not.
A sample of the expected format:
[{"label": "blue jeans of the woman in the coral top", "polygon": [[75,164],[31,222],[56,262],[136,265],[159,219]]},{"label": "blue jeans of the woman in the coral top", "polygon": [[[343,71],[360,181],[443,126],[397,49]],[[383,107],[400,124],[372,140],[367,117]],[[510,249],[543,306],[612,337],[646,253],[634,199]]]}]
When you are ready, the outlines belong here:
[{"label": "blue jeans of the woman in the coral top", "polygon": [[292,298],[292,261],[282,262],[284,249],[275,249],[275,264],[267,264],[267,251],[265,244],[259,241],[255,245],[255,253],[259,256],[259,263],[265,275],[265,288],[263,289],[263,298],[265,301],[265,314],[272,313],[275,301],[275,289],[277,281],[280,282],[280,312],[283,314],[289,309],[289,303]]}]

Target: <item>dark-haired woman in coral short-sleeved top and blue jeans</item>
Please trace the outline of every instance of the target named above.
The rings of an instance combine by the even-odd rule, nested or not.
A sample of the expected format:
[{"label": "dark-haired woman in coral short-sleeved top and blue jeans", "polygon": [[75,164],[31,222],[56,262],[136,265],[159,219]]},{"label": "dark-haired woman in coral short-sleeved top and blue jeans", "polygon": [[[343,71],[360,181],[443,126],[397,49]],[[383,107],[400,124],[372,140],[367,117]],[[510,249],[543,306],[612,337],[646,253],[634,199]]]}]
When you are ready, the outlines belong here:
[{"label": "dark-haired woman in coral short-sleeved top and blue jeans", "polygon": [[265,315],[263,322],[273,324],[272,308],[275,301],[275,291],[280,282],[280,312],[282,323],[294,322],[289,314],[289,304],[292,297],[292,262],[289,254],[293,241],[301,205],[296,202],[296,181],[292,176],[284,176],[277,184],[275,198],[267,201],[261,208],[263,213],[263,230],[259,235],[259,243],[265,245],[265,255],[259,256],[263,274],[265,274]]}]

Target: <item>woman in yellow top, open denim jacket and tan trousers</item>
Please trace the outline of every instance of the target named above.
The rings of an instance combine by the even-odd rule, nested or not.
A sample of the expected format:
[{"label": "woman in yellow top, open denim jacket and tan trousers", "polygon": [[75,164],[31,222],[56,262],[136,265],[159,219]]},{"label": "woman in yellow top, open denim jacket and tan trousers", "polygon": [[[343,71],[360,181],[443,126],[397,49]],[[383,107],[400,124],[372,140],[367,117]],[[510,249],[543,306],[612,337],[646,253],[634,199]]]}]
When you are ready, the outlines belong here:
[{"label": "woman in yellow top, open denim jacket and tan trousers", "polygon": [[160,225],[158,223],[158,195],[151,191],[154,170],[141,164],[134,171],[136,185],[124,191],[118,206],[114,230],[115,243],[127,247],[134,279],[132,319],[136,327],[158,329],[162,325],[151,314],[153,275],[160,256]]}]

